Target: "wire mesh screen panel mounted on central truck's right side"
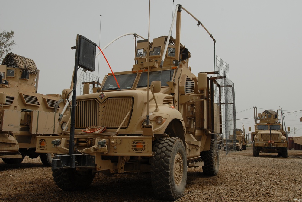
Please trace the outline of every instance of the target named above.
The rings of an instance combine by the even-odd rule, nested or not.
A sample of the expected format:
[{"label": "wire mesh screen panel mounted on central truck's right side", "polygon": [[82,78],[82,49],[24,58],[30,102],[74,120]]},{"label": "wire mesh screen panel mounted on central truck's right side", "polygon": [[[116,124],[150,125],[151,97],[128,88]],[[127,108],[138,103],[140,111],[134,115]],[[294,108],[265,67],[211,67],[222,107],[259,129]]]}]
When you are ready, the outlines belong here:
[{"label": "wire mesh screen panel mounted on central truck's right side", "polygon": [[229,65],[216,56],[218,74],[214,85],[214,125],[220,153],[236,151],[236,110],[234,83],[228,78]]}]

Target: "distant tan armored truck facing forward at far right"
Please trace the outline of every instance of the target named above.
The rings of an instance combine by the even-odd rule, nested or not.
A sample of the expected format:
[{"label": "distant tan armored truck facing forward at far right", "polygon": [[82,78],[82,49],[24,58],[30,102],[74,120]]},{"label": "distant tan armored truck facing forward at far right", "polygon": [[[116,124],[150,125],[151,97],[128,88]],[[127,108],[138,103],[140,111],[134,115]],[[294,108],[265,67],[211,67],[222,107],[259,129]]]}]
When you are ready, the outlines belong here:
[{"label": "distant tan armored truck facing forward at far right", "polygon": [[287,133],[289,133],[290,128],[288,127],[288,132],[283,130],[283,125],[278,120],[279,115],[277,112],[265,110],[262,114],[257,114],[257,108],[254,108],[255,132],[252,132],[252,141],[254,142],[253,156],[259,156],[259,152],[265,152],[278,153],[278,156],[284,158],[288,157]]}]

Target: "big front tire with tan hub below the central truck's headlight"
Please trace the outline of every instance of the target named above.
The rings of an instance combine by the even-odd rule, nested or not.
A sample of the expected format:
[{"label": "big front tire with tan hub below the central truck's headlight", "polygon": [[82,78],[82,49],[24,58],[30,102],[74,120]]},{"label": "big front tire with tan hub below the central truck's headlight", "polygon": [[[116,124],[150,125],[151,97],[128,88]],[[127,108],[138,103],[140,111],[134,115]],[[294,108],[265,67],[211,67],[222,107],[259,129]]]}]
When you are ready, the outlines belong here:
[{"label": "big front tire with tan hub below the central truck's headlight", "polygon": [[151,158],[151,182],[156,197],[176,200],[185,191],[187,156],[178,137],[164,137],[156,141]]}]

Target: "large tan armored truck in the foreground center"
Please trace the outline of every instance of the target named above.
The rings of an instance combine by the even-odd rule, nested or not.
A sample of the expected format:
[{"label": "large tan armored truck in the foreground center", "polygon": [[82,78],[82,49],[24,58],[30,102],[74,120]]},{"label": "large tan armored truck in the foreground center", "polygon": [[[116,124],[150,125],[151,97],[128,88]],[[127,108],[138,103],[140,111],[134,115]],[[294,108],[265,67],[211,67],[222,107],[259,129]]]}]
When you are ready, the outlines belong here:
[{"label": "large tan armored truck in the foreground center", "polygon": [[190,52],[180,44],[180,8],[176,39],[137,41],[129,71],[108,73],[93,93],[76,96],[73,143],[69,114],[62,134],[37,137],[37,152],[57,154],[52,170],[60,189],[85,189],[95,173],[150,172],[156,197],[175,200],[184,193],[187,167],[217,175],[213,85],[219,78],[192,74]]}]

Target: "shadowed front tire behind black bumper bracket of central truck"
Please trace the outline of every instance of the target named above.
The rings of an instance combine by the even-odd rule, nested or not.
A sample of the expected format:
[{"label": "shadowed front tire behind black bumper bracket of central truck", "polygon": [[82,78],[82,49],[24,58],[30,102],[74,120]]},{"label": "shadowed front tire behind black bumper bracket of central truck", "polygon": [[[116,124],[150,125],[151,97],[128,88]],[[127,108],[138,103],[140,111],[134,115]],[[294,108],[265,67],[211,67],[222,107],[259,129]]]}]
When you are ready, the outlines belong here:
[{"label": "shadowed front tire behind black bumper bracket of central truck", "polygon": [[63,191],[78,191],[89,187],[94,178],[92,171],[77,171],[76,168],[53,171],[53,181]]}]

